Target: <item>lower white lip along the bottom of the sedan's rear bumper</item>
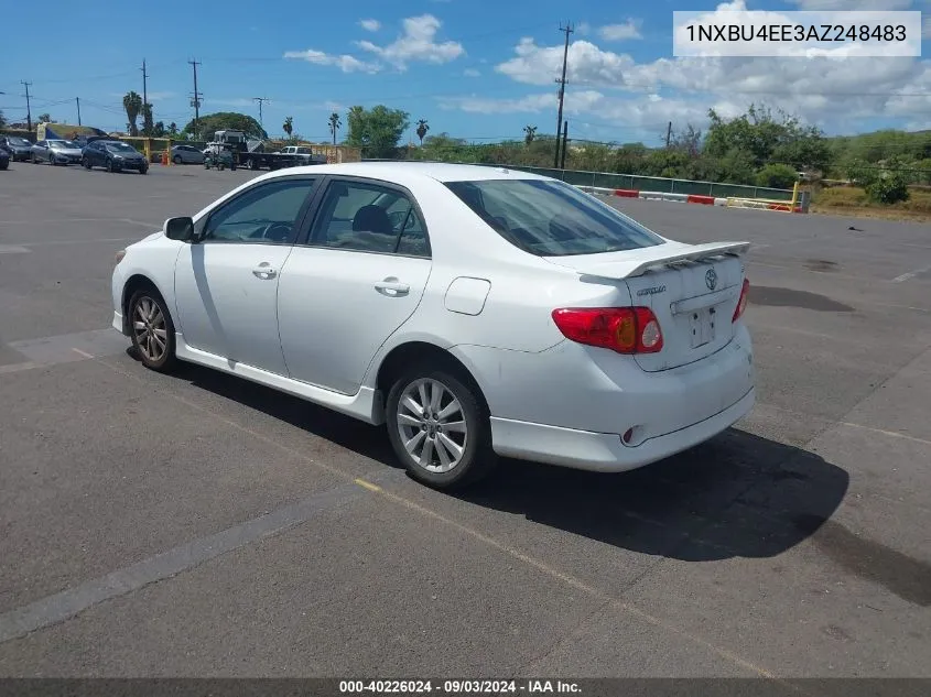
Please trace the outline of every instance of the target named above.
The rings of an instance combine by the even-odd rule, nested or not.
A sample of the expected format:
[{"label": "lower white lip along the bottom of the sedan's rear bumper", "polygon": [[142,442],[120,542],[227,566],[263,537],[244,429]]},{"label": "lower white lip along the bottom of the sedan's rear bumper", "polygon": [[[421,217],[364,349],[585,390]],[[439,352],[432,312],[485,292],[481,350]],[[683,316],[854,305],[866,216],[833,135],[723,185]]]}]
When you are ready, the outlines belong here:
[{"label": "lower white lip along the bottom of the sedan's rear bumper", "polygon": [[726,410],[680,431],[648,438],[636,447],[618,434],[593,433],[544,424],[491,418],[495,451],[505,457],[596,472],[624,472],[645,467],[713,438],[746,416],[756,402],[750,389]]}]

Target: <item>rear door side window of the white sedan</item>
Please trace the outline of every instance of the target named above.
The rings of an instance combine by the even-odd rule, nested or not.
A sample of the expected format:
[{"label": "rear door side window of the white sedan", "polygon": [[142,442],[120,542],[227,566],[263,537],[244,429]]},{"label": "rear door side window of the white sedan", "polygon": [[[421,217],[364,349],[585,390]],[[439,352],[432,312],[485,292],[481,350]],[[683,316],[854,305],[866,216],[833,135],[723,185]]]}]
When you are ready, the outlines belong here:
[{"label": "rear door side window of the white sedan", "polygon": [[404,193],[377,184],[334,182],[311,243],[365,252],[429,257],[426,228]]}]

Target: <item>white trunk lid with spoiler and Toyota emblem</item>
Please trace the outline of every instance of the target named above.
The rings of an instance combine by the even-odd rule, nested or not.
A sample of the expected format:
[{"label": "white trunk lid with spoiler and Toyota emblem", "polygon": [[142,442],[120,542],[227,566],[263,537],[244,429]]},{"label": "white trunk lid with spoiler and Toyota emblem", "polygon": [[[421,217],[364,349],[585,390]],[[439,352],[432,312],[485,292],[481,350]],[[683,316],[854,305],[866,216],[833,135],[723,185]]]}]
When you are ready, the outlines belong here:
[{"label": "white trunk lid with spoiler and Toyota emblem", "polygon": [[663,348],[639,353],[645,371],[684,366],[721,350],[734,338],[730,322],[744,283],[739,259],[749,242],[667,242],[624,252],[548,257],[581,276],[624,281],[631,305],[649,307],[660,323]]}]

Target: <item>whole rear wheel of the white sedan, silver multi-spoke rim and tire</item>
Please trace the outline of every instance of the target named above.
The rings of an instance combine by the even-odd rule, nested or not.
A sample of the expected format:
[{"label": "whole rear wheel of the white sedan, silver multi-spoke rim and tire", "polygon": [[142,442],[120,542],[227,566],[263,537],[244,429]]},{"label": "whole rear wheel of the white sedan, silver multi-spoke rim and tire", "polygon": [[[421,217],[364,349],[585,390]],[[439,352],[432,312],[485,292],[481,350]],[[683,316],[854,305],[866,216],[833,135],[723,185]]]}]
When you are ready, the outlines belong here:
[{"label": "whole rear wheel of the white sedan, silver multi-spoke rim and tire", "polygon": [[457,370],[429,364],[402,374],[388,393],[388,437],[410,475],[437,489],[473,483],[488,475],[488,412],[477,388]]}]

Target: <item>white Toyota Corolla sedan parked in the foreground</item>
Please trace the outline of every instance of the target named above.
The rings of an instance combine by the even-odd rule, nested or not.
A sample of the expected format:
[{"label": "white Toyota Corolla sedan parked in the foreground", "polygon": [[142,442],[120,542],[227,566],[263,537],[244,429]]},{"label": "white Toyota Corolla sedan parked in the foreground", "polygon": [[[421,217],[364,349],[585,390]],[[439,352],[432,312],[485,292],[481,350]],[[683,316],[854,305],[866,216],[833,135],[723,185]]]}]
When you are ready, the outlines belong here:
[{"label": "white Toyota Corolla sedan parked in the foreground", "polygon": [[113,327],[370,424],[420,481],[598,471],[755,400],[746,242],[684,244],[562,182],[427,163],[259,176],[117,255]]}]

